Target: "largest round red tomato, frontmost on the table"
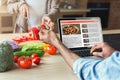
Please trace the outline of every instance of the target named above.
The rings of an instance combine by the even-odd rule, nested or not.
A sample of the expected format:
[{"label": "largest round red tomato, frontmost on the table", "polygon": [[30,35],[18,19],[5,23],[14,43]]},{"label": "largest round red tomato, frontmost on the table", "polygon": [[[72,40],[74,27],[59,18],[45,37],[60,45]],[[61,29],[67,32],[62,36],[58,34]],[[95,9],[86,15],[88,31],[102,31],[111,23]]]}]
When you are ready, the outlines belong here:
[{"label": "largest round red tomato, frontmost on the table", "polygon": [[20,68],[28,69],[32,66],[32,59],[30,57],[21,56],[18,58],[18,66]]}]

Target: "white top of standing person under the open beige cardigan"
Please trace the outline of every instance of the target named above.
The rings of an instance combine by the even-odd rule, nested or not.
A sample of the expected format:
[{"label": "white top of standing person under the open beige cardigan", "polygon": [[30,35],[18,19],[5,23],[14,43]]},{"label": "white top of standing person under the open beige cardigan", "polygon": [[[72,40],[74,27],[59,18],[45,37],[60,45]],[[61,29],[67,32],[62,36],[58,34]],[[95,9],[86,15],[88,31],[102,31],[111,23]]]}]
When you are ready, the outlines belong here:
[{"label": "white top of standing person under the open beige cardigan", "polygon": [[26,0],[29,5],[28,28],[38,27],[42,22],[42,17],[46,14],[47,0]]}]

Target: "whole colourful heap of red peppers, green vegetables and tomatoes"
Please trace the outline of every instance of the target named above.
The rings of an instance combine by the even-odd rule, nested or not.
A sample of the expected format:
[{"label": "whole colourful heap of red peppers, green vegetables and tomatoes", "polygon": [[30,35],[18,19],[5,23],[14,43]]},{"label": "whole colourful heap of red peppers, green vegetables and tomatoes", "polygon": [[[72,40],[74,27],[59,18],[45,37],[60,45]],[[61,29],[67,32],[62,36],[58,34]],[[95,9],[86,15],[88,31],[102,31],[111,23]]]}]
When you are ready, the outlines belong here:
[{"label": "whole colourful heap of red peppers, green vegetables and tomatoes", "polygon": [[[45,28],[44,25],[41,25],[41,28]],[[56,54],[56,47],[50,44],[46,44],[44,42],[40,43],[28,43],[20,46],[19,44],[26,41],[39,41],[39,30],[34,27],[29,29],[29,33],[26,36],[15,37],[13,41],[7,41],[9,45],[11,45],[12,50],[14,51],[12,54],[14,56],[14,62],[20,67],[24,69],[29,69],[31,66],[39,65],[41,57],[45,53],[49,55]]]}]

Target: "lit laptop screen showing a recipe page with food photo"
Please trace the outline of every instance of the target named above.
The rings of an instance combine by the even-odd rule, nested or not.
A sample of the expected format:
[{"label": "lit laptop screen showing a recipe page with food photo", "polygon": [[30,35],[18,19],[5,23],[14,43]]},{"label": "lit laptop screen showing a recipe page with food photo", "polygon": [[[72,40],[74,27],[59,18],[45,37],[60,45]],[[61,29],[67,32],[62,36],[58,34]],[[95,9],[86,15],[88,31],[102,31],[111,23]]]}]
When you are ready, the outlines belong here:
[{"label": "lit laptop screen showing a recipe page with food photo", "polygon": [[96,20],[61,20],[62,42],[68,48],[90,47],[103,42],[101,24]]}]

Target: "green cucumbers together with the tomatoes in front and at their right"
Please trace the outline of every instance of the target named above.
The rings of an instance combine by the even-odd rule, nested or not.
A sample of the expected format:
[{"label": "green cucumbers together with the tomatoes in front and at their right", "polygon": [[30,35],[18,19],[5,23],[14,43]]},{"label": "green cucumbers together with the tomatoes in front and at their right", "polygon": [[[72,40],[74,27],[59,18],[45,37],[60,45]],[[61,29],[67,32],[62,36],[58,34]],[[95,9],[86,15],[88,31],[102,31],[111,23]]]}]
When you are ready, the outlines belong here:
[{"label": "green cucumbers together with the tomatoes in front and at their right", "polygon": [[20,68],[31,68],[32,64],[39,65],[41,57],[45,53],[49,55],[56,54],[56,47],[46,43],[29,43],[19,47],[14,51],[14,62]]}]

